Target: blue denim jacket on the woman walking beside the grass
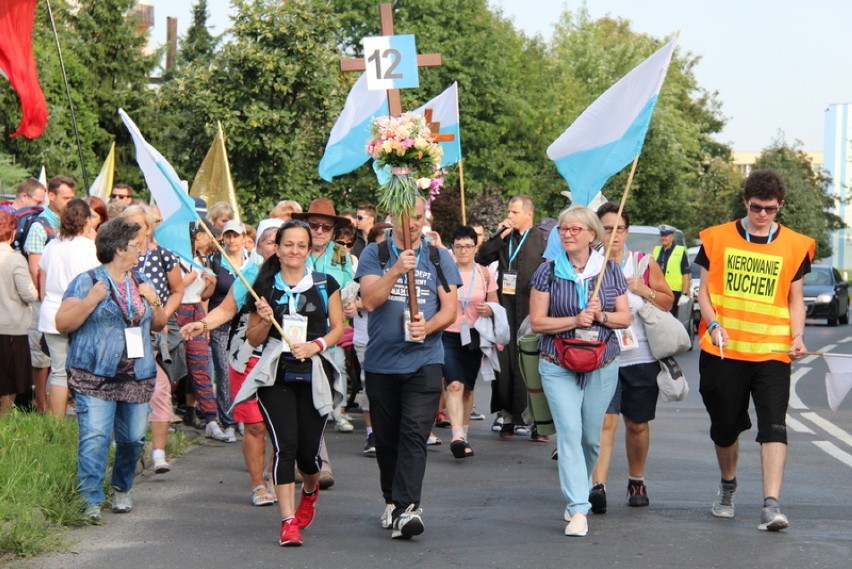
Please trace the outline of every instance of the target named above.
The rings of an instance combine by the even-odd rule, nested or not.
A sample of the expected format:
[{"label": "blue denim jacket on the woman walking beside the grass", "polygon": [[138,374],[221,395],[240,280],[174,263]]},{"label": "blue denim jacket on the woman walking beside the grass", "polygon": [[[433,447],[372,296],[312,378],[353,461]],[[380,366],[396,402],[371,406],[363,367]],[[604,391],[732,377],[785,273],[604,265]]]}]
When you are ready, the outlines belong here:
[{"label": "blue denim jacket on the woman walking beside the grass", "polygon": [[[94,269],[97,280],[108,282],[108,275],[103,265]],[[150,282],[148,277],[135,273],[141,282]],[[80,273],[65,291],[66,298],[86,298],[94,285],[89,273]],[[145,303],[145,315],[142,317],[142,338],[147,339],[151,334],[151,321],[154,310]],[[101,377],[115,377],[118,364],[125,353],[124,329],[126,323],[121,308],[113,300],[112,295],[102,300],[89,315],[83,325],[71,333],[71,343],[68,347],[66,367],[68,369],[84,369]],[[137,380],[150,379],[157,374],[154,351],[151,342],[143,341],[144,355],[133,363]]]}]

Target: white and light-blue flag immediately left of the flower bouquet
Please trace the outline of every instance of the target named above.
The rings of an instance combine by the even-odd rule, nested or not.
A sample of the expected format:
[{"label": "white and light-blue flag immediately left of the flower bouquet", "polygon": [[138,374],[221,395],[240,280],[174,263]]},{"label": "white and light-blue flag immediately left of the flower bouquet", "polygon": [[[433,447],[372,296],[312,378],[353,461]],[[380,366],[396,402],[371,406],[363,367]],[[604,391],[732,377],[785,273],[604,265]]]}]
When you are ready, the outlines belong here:
[{"label": "white and light-blue flag immediately left of the flower bouquet", "polygon": [[370,140],[370,121],[387,114],[387,92],[368,91],[367,76],[362,73],[331,129],[320,160],[320,178],[331,182],[335,176],[348,174],[369,160],[366,148]]}]

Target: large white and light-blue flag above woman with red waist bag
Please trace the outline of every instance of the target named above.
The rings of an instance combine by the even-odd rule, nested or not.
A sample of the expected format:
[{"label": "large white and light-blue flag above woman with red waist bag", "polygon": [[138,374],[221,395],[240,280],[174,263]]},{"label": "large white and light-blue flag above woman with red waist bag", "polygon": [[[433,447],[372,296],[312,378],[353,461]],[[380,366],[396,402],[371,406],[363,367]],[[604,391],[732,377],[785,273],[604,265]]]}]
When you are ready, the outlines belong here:
[{"label": "large white and light-blue flag above woman with red waist bag", "polygon": [[642,152],[676,45],[677,37],[607,89],[547,149],[568,181],[573,204],[588,205]]}]

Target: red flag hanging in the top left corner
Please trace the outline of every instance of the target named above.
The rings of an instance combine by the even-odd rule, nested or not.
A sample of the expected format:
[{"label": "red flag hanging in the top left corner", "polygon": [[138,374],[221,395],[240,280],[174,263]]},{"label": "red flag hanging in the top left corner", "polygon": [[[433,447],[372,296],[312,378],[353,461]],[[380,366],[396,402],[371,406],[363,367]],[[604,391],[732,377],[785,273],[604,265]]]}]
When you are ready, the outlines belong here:
[{"label": "red flag hanging in the top left corner", "polygon": [[38,138],[47,125],[47,101],[33,55],[37,0],[0,0],[0,72],[21,100],[21,123],[12,136]]}]

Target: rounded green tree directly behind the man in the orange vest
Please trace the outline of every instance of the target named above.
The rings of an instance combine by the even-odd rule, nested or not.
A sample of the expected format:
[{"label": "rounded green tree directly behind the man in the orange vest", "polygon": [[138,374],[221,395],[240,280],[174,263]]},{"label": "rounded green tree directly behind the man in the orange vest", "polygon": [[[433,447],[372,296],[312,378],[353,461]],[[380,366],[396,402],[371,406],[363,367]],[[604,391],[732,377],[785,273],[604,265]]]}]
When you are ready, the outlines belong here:
[{"label": "rounded green tree directly behind the man in the orange vest", "polygon": [[[814,172],[811,161],[802,152],[800,145],[776,140],[763,150],[754,167],[775,170],[787,186],[787,197],[777,220],[799,233],[813,237],[817,243],[817,259],[831,256],[829,233],[842,229],[845,223],[830,211],[837,204],[828,193],[829,180],[823,174]],[[745,215],[741,201],[737,213]]]}]

